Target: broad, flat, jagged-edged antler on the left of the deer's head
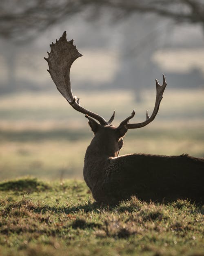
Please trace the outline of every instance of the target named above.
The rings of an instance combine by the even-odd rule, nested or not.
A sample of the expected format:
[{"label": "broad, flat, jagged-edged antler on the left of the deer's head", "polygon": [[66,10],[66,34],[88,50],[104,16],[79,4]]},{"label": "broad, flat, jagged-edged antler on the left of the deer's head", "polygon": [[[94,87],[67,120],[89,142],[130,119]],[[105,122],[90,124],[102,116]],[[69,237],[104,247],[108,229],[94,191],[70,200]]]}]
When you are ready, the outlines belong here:
[{"label": "broad, flat, jagged-edged antler on the left of the deer's head", "polygon": [[64,31],[62,37],[60,37],[59,40],[56,39],[56,43],[50,45],[51,52],[47,52],[48,58],[44,58],[49,66],[49,70],[47,71],[50,73],[58,91],[60,91],[75,110],[95,118],[101,125],[110,125],[114,119],[115,111],[107,122],[102,116],[84,109],[80,106],[79,98],[76,96],[73,97],[69,77],[70,68],[75,59],[81,57],[82,54],[80,54],[76,46],[73,45],[73,40],[67,41],[66,36],[66,31]]}]

